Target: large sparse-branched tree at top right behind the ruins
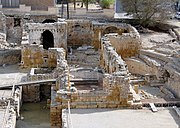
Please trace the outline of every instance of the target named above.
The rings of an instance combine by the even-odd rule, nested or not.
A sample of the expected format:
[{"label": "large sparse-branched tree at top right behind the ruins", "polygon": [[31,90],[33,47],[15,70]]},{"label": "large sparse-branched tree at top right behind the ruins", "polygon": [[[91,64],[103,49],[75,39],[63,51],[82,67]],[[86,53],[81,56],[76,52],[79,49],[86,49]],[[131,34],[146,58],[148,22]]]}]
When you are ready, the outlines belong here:
[{"label": "large sparse-branched tree at top right behind the ruins", "polygon": [[123,10],[143,26],[164,21],[172,12],[174,0],[121,0]]}]

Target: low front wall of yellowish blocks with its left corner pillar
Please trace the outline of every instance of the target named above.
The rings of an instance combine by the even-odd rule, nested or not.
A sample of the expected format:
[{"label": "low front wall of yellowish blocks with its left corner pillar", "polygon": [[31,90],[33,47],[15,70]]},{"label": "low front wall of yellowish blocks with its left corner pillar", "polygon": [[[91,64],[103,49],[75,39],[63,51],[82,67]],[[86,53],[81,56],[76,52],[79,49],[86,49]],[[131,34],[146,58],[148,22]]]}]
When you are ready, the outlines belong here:
[{"label": "low front wall of yellowish blocks with its left corner pillar", "polygon": [[[117,88],[114,88],[116,90]],[[116,93],[117,92],[117,93]],[[127,99],[119,99],[118,91],[112,92],[110,95],[108,92],[92,91],[92,92],[69,92],[60,91],[57,92],[55,104],[51,103],[51,126],[62,127],[62,110],[68,108],[68,102],[71,108],[123,108],[130,107]],[[120,100],[120,101],[119,101]]]}]

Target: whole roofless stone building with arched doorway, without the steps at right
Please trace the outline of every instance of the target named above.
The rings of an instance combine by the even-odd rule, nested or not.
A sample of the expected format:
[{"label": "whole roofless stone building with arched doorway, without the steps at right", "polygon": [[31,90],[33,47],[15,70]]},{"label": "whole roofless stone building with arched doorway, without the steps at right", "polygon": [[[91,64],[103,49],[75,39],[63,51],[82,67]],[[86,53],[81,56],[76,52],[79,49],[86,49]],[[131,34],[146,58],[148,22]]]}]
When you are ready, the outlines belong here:
[{"label": "whole roofless stone building with arched doorway, without the steps at right", "polygon": [[[140,43],[138,32],[126,24],[87,20],[27,23],[22,37],[21,66],[32,68],[25,81],[56,79],[51,89],[51,125],[61,126],[62,110],[68,107],[68,102],[71,108],[141,108],[140,98],[130,84],[130,73],[122,59],[139,53]],[[67,46],[84,44],[99,49],[100,63],[97,66],[103,72],[68,65]],[[91,51],[86,51],[88,57],[92,55]],[[43,68],[52,69],[52,72],[42,73]],[[40,100],[38,85],[23,88],[27,101]],[[26,90],[31,90],[31,94]]]}]

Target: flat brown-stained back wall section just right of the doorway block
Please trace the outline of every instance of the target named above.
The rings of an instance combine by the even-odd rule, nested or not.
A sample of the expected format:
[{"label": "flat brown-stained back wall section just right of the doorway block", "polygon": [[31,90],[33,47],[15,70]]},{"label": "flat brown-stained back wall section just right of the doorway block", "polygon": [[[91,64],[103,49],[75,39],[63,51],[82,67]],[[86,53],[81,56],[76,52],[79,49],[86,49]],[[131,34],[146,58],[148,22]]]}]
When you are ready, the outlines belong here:
[{"label": "flat brown-stained back wall section just right of the doorway block", "polygon": [[68,46],[91,45],[93,40],[92,23],[89,20],[67,20]]}]

